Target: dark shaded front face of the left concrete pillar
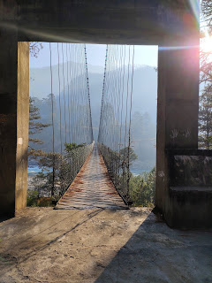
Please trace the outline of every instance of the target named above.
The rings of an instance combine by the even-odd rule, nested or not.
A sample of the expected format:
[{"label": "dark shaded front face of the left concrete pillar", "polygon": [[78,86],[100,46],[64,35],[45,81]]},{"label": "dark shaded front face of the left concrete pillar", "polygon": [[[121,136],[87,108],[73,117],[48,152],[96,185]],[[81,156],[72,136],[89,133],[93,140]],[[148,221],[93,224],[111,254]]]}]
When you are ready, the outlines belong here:
[{"label": "dark shaded front face of the left concrete pillar", "polygon": [[0,214],[14,214],[17,135],[17,35],[0,35]]}]

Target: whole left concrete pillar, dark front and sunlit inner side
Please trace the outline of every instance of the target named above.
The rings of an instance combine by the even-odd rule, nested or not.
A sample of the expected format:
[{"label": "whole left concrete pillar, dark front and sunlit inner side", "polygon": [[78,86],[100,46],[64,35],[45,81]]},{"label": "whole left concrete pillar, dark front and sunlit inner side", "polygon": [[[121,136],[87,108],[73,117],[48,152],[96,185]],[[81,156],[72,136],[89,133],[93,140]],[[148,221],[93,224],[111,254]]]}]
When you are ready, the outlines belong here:
[{"label": "whole left concrete pillar, dark front and sunlit inner side", "polygon": [[0,215],[27,202],[28,43],[15,29],[0,28]]}]

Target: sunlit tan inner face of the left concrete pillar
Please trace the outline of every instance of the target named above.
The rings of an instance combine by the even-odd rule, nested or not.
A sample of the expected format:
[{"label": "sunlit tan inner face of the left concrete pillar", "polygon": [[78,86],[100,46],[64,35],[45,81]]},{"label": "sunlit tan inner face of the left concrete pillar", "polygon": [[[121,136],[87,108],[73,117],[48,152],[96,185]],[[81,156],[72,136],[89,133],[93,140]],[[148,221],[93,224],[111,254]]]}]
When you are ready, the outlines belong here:
[{"label": "sunlit tan inner face of the left concrete pillar", "polygon": [[27,205],[28,124],[29,42],[18,42],[16,211]]}]

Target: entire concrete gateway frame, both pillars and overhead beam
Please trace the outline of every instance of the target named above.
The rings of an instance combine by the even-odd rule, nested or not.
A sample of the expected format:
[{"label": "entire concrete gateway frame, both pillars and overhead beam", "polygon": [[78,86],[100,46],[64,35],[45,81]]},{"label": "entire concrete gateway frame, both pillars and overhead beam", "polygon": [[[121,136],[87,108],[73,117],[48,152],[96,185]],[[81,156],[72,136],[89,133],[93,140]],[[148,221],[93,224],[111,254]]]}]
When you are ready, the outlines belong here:
[{"label": "entire concrete gateway frame, both pillars and overhead beam", "polygon": [[14,214],[26,205],[25,42],[156,44],[160,47],[156,205],[174,226],[165,149],[197,149],[199,15],[190,0],[8,0],[0,3],[0,16],[1,213]]}]

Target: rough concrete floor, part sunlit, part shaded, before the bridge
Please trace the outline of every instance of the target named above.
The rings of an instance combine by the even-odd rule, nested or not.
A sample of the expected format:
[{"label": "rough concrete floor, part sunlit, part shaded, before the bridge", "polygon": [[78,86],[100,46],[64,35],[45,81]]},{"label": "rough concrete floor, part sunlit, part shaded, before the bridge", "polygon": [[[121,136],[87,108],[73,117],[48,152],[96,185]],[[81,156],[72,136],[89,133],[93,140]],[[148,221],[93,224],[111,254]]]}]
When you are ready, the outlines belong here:
[{"label": "rough concrete floor, part sunlit, part shaded, before the bridge", "polygon": [[149,209],[27,208],[0,224],[1,283],[212,282],[212,231]]}]

